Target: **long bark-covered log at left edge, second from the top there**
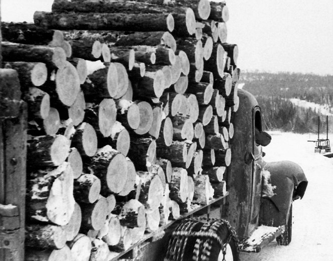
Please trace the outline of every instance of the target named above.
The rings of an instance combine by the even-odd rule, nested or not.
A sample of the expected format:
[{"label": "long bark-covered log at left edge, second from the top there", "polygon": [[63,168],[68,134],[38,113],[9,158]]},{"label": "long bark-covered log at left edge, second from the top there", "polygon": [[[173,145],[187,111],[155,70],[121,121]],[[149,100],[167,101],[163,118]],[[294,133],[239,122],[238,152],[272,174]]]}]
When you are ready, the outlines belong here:
[{"label": "long bark-covered log at left edge, second from the top there", "polygon": [[66,62],[66,54],[61,47],[2,42],[2,55],[6,62],[41,62],[50,68],[62,68]]}]

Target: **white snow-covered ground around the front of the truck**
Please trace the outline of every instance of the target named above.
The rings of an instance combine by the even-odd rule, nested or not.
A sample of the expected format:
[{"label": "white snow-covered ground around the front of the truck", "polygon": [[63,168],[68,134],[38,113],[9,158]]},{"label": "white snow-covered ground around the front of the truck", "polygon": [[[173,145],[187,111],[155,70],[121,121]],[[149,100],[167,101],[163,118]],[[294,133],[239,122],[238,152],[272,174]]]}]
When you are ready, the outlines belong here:
[{"label": "white snow-covered ground around the front of the truck", "polygon": [[313,135],[270,134],[264,160],[296,162],[309,184],[304,198],[293,204],[290,245],[274,240],[259,253],[241,252],[241,261],[333,261],[333,159],[313,153],[314,144],[306,142],[316,139]]}]

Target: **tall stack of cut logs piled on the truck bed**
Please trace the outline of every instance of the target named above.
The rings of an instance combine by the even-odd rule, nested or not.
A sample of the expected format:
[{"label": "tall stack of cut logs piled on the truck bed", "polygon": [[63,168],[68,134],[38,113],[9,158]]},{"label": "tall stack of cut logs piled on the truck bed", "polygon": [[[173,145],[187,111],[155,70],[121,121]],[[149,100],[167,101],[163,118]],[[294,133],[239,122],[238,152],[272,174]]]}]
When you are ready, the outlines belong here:
[{"label": "tall stack of cut logs piled on the truck bed", "polygon": [[54,0],[2,23],[28,103],[26,260],[108,260],[226,193],[228,19],[208,0]]}]

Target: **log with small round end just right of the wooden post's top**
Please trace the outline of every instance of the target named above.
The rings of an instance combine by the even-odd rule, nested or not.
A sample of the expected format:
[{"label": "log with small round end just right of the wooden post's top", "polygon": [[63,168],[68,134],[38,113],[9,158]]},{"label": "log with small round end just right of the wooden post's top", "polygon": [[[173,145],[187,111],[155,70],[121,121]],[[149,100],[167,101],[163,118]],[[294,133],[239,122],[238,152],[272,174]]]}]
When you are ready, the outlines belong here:
[{"label": "log with small round end just right of the wooden post's top", "polygon": [[14,69],[19,73],[22,90],[27,90],[32,86],[41,86],[48,78],[48,72],[45,63],[6,62],[3,63],[3,67]]}]

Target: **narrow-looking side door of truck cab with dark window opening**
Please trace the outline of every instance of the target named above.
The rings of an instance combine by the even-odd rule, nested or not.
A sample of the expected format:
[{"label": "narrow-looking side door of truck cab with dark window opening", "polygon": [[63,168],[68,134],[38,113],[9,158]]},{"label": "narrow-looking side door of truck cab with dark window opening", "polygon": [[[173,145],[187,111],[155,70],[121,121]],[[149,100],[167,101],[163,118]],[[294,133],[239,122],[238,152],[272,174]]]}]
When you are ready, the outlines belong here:
[{"label": "narrow-looking side door of truck cab with dark window opening", "polygon": [[253,108],[253,156],[254,161],[252,163],[252,191],[251,191],[251,210],[250,210],[250,225],[249,232],[256,229],[258,226],[259,210],[260,210],[260,198],[261,198],[261,166],[262,166],[262,146],[256,143],[255,128],[259,132],[262,131],[261,124],[261,112],[260,107],[255,106]]}]

